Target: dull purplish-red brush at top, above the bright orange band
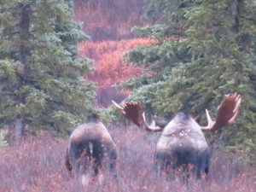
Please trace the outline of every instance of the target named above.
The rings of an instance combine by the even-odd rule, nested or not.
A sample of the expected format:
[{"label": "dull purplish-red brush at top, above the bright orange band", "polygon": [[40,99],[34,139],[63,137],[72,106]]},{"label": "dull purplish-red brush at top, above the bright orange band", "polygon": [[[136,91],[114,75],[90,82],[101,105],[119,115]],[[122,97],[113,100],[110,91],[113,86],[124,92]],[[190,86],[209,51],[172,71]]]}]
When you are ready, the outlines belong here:
[{"label": "dull purplish-red brush at top, above the bright orange band", "polygon": [[93,40],[131,38],[132,26],[143,26],[143,0],[75,0],[75,20]]}]

